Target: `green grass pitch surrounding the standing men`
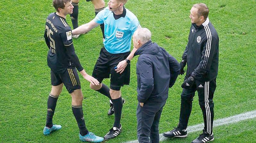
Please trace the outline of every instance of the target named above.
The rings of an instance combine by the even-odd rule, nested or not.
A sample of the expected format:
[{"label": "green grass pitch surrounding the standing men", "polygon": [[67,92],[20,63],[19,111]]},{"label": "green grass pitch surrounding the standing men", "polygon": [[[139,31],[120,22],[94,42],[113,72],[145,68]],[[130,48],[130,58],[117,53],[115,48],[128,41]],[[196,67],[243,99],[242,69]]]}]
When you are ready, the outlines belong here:
[{"label": "green grass pitch surrounding the standing men", "polygon": [[[107,1],[105,1],[107,3]],[[210,9],[209,18],[219,33],[219,75],[214,95],[215,119],[256,109],[256,2],[255,0],[129,0],[126,8],[132,11],[142,27],[152,32],[152,41],[164,47],[178,61],[185,49],[190,29],[192,4],[204,2]],[[51,90],[50,69],[47,67],[48,48],[43,38],[45,19],[54,12],[51,0],[2,0],[0,2],[0,142],[3,143],[77,143],[78,127],[71,110],[71,97],[64,88],[57,103],[54,123],[62,129],[49,136],[45,126],[47,98]],[[79,2],[79,25],[95,17],[91,2]],[[70,17],[67,21],[71,25]],[[76,53],[88,74],[92,74],[102,44],[97,27],[74,39]],[[108,143],[122,143],[136,136],[136,61],[131,61],[131,82],[121,89],[126,99],[121,124],[123,132]],[[177,126],[180,109],[178,76],[163,109],[160,133]],[[107,116],[108,99],[89,89],[80,76],[84,94],[83,109],[89,131],[104,136],[112,127],[114,116]],[[103,81],[109,86],[110,80]],[[198,97],[194,98],[189,125],[203,122]],[[213,129],[213,143],[256,142],[256,119],[219,126]],[[191,142],[201,132],[186,139],[168,139],[163,143]]]}]

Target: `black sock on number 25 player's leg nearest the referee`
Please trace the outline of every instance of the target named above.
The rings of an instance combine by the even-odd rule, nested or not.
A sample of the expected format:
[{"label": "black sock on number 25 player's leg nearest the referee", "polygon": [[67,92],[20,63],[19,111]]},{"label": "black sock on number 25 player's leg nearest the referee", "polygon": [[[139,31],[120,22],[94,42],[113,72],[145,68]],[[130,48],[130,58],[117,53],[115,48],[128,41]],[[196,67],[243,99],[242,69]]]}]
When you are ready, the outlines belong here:
[{"label": "black sock on number 25 player's leg nearest the referee", "polygon": [[83,107],[82,105],[72,105],[73,114],[77,120],[77,125],[79,127],[80,134],[82,136],[88,133],[88,130],[85,126],[84,114],[83,114]]}]

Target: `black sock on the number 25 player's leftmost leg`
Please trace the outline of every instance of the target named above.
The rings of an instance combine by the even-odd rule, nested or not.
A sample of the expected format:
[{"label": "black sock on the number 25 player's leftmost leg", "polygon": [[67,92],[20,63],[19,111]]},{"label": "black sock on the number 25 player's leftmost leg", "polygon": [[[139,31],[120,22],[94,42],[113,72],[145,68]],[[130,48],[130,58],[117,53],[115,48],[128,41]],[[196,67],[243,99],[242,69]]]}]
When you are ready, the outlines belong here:
[{"label": "black sock on the number 25 player's leftmost leg", "polygon": [[47,116],[46,116],[46,127],[51,128],[53,126],[53,115],[56,108],[58,97],[49,94],[47,100]]}]

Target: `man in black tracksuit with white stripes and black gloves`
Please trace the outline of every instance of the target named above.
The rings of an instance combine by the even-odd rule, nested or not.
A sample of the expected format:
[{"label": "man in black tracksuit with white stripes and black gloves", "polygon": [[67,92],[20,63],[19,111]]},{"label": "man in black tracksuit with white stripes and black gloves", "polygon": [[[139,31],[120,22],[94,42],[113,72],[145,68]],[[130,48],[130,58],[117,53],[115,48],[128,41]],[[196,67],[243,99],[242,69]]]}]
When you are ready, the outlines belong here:
[{"label": "man in black tracksuit with white stripes and black gloves", "polygon": [[185,80],[181,87],[181,107],[179,124],[172,131],[165,132],[165,137],[187,136],[187,124],[192,109],[195,91],[198,92],[199,104],[203,113],[203,133],[192,143],[205,143],[214,139],[213,94],[216,89],[216,77],[219,63],[219,36],[208,18],[209,9],[205,4],[194,4],[190,11],[191,28],[188,43],[182,56],[180,74],[187,63]]}]

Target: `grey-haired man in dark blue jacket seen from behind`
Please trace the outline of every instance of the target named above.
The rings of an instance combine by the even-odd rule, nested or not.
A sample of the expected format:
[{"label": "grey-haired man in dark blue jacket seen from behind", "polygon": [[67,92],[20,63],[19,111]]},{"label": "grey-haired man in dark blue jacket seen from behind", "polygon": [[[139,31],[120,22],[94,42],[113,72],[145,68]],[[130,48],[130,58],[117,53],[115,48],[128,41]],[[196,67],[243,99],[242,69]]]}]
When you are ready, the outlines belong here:
[{"label": "grey-haired man in dark blue jacket seen from behind", "polygon": [[151,42],[151,32],[147,28],[134,32],[133,45],[138,49],[134,55],[140,55],[136,65],[138,140],[139,143],[159,143],[161,112],[180,65],[164,48]]}]

